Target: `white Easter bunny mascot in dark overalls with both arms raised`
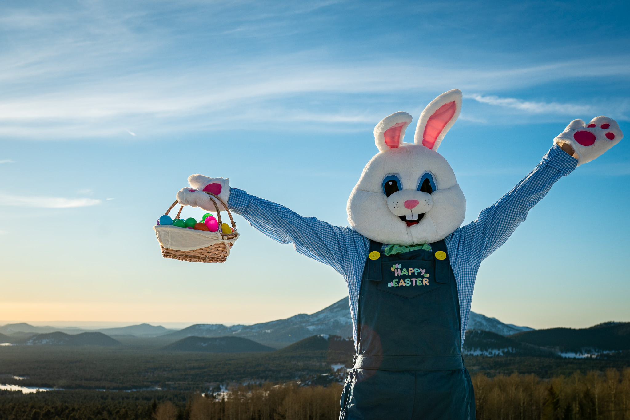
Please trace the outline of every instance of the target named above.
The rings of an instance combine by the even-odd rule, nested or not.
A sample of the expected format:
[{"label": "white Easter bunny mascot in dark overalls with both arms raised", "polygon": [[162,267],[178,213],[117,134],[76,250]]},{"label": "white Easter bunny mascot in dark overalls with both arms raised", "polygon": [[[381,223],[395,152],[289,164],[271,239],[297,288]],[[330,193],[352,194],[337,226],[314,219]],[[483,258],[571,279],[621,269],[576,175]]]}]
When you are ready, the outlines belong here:
[{"label": "white Easter bunny mascot in dark overalls with both arms raised", "polygon": [[218,194],[256,229],[293,242],[297,252],[343,275],[356,355],[341,395],[341,419],[474,419],[461,349],[481,261],[559,178],[623,137],[605,116],[588,125],[571,122],[512,191],[460,227],[466,199],[437,149],[461,105],[458,89],[435,98],[420,115],[413,143],[403,142],[408,113],[376,125],[379,152],[350,194],[349,227],[302,217],[230,188],[224,178],[192,175],[192,189],[178,193],[181,203],[203,208],[203,190]]}]

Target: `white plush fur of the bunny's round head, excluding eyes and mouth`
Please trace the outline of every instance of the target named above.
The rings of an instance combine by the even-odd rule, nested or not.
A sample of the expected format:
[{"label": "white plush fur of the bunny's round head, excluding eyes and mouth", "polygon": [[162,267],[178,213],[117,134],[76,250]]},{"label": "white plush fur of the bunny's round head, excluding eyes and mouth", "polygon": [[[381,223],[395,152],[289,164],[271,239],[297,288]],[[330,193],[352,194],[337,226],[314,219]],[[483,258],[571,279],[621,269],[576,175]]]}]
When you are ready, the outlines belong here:
[{"label": "white plush fur of the bunny's round head, excluding eyes and mouth", "polygon": [[[425,172],[433,175],[437,190],[430,195],[431,205],[420,223],[407,227],[390,210],[382,181],[389,174],[398,174],[403,184],[399,192],[423,203],[427,193],[416,189]],[[466,198],[444,157],[423,145],[405,144],[372,157],[348,198],[347,210],[350,226],[369,239],[384,244],[423,244],[444,239],[462,224]]]}]

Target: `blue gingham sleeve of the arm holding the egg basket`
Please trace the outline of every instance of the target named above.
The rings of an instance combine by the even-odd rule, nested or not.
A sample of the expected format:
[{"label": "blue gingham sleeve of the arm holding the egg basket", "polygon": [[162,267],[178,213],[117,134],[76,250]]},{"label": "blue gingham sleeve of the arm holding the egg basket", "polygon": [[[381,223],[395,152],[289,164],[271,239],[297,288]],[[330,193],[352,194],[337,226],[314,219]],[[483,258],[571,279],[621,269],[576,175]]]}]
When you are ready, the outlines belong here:
[{"label": "blue gingham sleeve of the arm holding the egg basket", "polygon": [[364,237],[350,227],[333,226],[315,217],[303,217],[272,201],[231,188],[229,209],[242,215],[266,236],[289,244],[295,251],[328,264],[341,275],[350,266],[349,257],[365,247]]}]

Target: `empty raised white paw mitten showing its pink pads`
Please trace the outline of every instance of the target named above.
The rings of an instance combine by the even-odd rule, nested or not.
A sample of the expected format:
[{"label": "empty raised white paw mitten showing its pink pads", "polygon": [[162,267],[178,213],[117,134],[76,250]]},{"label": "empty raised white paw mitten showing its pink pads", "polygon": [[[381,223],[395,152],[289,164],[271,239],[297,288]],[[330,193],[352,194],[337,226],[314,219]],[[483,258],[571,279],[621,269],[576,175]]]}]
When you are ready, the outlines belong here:
[{"label": "empty raised white paw mitten showing its pink pads", "polygon": [[623,137],[624,133],[621,132],[619,124],[612,118],[602,115],[593,118],[588,125],[583,120],[571,121],[554,139],[554,143],[560,147],[563,144],[573,147],[575,152],[573,157],[578,159],[578,166],[580,166],[597,159],[610,147],[619,143]]}]

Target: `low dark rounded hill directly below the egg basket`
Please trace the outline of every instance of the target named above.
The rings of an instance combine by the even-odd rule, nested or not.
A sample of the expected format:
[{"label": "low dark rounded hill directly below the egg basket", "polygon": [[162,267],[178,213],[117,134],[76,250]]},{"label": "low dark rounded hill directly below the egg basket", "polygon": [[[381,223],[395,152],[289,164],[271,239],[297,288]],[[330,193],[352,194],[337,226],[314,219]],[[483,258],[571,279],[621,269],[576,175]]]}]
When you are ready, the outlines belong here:
[{"label": "low dark rounded hill directly below the egg basket", "polygon": [[243,337],[186,337],[163,348],[171,351],[205,351],[207,353],[249,353],[274,351],[275,348],[263,346]]}]

